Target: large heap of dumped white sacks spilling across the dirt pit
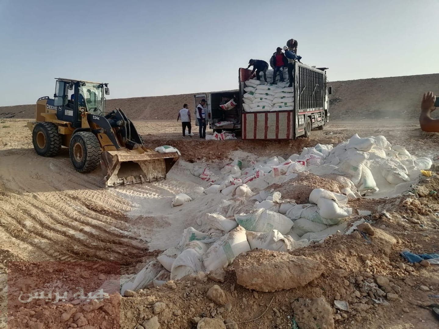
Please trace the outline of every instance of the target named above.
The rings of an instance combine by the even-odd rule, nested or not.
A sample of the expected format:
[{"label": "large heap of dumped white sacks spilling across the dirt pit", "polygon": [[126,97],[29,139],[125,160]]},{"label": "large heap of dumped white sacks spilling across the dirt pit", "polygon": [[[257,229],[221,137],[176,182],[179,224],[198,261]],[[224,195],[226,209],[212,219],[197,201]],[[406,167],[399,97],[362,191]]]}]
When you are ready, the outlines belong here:
[{"label": "large heap of dumped white sacks spilling across the dirt pit", "polygon": [[[304,148],[288,159],[270,157],[247,163],[236,159],[219,172],[194,165],[192,174],[207,182],[204,189],[197,190],[198,197],[222,193],[225,200],[202,218],[199,230],[185,229],[176,247],[122,282],[121,293],[225,268],[237,255],[255,248],[289,251],[345,232],[353,212],[348,207],[349,198],[380,190],[401,193],[419,179],[420,170],[431,165],[429,158],[413,157],[405,148],[392,146],[384,136],[358,135],[334,148],[321,144]],[[299,172],[332,174],[342,186],[341,193],[314,189],[309,204],[296,204],[295,200],[281,199],[279,192],[266,190],[273,183],[297,177]],[[192,200],[180,193],[172,205],[184,207]],[[237,204],[247,204],[248,200],[255,200],[253,210],[239,213],[242,207]]]}]

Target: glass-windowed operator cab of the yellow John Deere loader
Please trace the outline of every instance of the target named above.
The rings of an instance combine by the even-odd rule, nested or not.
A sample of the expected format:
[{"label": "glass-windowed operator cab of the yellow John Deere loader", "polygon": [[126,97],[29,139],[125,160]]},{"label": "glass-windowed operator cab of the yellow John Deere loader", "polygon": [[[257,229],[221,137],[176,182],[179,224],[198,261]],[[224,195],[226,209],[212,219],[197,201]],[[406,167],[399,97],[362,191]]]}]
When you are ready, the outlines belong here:
[{"label": "glass-windowed operator cab of the yellow John Deere loader", "polygon": [[108,84],[58,78],[55,85],[53,107],[58,120],[81,126],[81,112],[96,115],[105,113],[105,95],[109,94]]}]

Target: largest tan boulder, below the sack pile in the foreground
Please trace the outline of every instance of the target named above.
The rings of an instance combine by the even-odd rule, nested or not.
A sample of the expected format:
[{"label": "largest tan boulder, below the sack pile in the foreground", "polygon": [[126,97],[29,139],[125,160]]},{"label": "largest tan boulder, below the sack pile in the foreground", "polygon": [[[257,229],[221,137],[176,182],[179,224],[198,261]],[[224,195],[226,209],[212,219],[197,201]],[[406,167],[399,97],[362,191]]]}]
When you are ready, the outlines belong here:
[{"label": "largest tan boulder, below the sack pile in the foreground", "polygon": [[[311,258],[264,249],[253,250],[248,256],[241,254],[233,264],[239,285],[263,292],[305,286],[324,269]],[[273,270],[275,265],[277,269]]]}]

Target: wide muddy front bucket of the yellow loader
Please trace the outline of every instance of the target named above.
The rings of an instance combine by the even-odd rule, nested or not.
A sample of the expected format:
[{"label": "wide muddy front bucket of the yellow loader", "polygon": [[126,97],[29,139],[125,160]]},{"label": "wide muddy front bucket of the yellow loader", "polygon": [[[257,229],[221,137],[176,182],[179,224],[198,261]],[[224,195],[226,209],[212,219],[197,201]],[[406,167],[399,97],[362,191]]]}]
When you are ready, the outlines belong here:
[{"label": "wide muddy front bucket of the yellow loader", "polygon": [[142,149],[104,151],[101,154],[101,167],[105,185],[117,186],[166,179],[166,174],[178,158],[176,152],[144,152]]}]

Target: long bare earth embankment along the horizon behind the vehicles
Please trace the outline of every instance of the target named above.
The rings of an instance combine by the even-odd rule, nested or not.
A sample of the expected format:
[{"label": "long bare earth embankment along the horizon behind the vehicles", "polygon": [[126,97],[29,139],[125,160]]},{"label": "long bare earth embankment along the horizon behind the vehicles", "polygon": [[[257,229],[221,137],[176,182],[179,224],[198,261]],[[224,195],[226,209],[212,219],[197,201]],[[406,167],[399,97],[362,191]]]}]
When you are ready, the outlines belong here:
[{"label": "long bare earth embankment along the horizon behind the vehicles", "polygon": [[[425,74],[331,82],[331,119],[416,117],[422,94],[438,92],[438,79],[439,74]],[[135,120],[169,120],[185,103],[194,110],[194,94],[109,99],[107,107],[120,107]],[[34,104],[4,106],[0,118],[33,118],[34,111]]]}]

